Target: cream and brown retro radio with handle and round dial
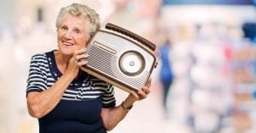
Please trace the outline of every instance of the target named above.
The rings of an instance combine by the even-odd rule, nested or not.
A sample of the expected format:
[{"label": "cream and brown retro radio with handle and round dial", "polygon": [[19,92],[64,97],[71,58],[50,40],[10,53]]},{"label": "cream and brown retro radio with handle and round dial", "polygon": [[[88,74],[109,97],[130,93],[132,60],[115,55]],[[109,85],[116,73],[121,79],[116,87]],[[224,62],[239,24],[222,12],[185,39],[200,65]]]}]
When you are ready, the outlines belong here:
[{"label": "cream and brown retro radio with handle and round dial", "polygon": [[157,66],[154,51],[152,42],[108,23],[90,39],[88,64],[81,69],[124,91],[137,91]]}]

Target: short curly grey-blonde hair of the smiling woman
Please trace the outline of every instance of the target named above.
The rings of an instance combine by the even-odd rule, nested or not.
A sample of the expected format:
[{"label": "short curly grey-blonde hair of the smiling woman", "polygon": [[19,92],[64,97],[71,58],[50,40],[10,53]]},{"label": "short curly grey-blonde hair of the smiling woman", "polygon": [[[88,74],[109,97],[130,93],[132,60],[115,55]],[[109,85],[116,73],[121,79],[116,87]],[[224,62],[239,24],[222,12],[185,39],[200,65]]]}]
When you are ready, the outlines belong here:
[{"label": "short curly grey-blonde hair of the smiling woman", "polygon": [[79,4],[79,3],[73,3],[67,7],[63,7],[60,10],[60,13],[58,14],[58,17],[55,22],[55,26],[57,30],[60,28],[61,20],[66,14],[71,14],[73,16],[77,17],[83,17],[84,19],[87,19],[89,24],[87,24],[87,35],[90,37],[93,36],[96,33],[96,30],[100,28],[100,17],[99,14],[96,13],[96,11],[92,8],[89,8],[86,5]]}]

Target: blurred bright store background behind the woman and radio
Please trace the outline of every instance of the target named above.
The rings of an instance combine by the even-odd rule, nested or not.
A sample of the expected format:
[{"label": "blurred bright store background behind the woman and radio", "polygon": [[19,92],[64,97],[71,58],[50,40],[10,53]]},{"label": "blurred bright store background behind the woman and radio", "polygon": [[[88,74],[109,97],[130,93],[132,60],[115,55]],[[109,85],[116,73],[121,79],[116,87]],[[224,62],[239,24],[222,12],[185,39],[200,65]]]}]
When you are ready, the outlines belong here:
[{"label": "blurred bright store background behind the woman and radio", "polygon": [[[70,3],[89,5],[100,14],[102,25],[112,22],[131,30],[162,53],[152,92],[110,133],[256,132],[254,0],[0,3],[0,133],[38,132],[37,119],[26,110],[29,61],[35,53],[56,48],[55,18]],[[171,47],[162,52],[166,43]],[[169,92],[163,80],[169,80]],[[126,95],[116,89],[117,103]]]}]

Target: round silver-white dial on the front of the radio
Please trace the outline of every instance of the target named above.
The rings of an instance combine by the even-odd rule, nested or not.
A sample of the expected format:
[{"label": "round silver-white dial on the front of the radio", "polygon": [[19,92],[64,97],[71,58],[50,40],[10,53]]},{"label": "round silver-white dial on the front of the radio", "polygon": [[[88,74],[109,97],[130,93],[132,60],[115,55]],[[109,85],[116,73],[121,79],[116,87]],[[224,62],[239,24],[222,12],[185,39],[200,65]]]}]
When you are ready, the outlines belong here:
[{"label": "round silver-white dial on the front of the radio", "polygon": [[145,59],[142,54],[129,51],[121,55],[119,67],[125,75],[139,75],[145,68]]}]

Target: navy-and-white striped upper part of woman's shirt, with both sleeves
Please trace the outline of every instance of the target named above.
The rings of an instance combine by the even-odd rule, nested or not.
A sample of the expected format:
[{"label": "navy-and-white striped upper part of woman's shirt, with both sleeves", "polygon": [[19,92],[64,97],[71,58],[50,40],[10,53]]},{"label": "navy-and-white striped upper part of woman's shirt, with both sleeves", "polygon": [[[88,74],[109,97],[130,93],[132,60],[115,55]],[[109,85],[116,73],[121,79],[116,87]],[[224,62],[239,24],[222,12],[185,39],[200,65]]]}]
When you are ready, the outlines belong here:
[{"label": "navy-and-white striped upper part of woman's shirt, with both sleeves", "polygon": [[[102,97],[102,108],[115,106],[113,85],[80,71],[62,96],[62,100],[84,101]],[[45,91],[61,77],[61,72],[55,64],[54,51],[35,54],[31,58],[26,93]]]}]

